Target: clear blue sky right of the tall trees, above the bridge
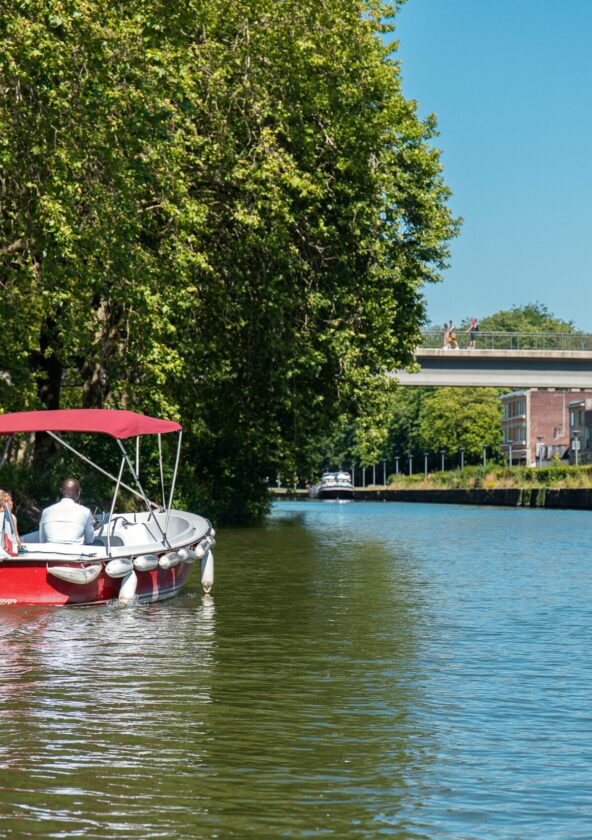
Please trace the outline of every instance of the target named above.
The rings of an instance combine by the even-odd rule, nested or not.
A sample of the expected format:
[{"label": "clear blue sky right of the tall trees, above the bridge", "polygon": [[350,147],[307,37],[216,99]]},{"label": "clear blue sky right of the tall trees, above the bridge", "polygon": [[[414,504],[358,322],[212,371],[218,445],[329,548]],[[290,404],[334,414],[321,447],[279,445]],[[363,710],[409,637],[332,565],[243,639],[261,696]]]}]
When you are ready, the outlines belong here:
[{"label": "clear blue sky right of the tall trees, above the bridge", "polygon": [[464,219],[430,319],[538,300],[592,332],[592,0],[408,0],[395,22]]}]

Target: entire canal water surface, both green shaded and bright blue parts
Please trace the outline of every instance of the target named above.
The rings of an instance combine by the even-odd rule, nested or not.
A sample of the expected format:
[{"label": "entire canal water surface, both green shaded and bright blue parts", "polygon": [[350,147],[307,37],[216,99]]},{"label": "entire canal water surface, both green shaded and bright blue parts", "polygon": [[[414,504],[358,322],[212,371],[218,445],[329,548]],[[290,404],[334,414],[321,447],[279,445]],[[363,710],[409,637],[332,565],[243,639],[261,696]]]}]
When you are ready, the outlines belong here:
[{"label": "entire canal water surface, both green shaded and bright blue parts", "polygon": [[0,837],[591,837],[590,516],[284,502],[211,598],[0,608]]}]

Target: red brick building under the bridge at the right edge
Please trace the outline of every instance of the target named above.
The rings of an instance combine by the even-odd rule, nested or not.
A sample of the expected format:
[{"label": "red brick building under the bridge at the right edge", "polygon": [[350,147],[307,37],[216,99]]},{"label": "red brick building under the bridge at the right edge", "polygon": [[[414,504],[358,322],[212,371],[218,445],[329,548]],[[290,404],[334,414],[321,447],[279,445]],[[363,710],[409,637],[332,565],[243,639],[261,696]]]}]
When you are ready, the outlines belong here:
[{"label": "red brick building under the bridge at the right edge", "polygon": [[[576,399],[577,393],[577,399]],[[545,464],[553,458],[564,458],[571,449],[570,422],[571,406],[577,402],[581,411],[582,425],[578,427],[581,439],[585,439],[585,405],[589,402],[588,448],[592,448],[592,392],[590,391],[539,391],[528,388],[524,391],[512,391],[501,397],[502,415],[502,452],[512,464],[536,466]],[[580,419],[580,414],[575,415]],[[572,429],[575,426],[571,427]],[[583,454],[583,443],[582,443]],[[589,453],[592,460],[592,452]]]}]

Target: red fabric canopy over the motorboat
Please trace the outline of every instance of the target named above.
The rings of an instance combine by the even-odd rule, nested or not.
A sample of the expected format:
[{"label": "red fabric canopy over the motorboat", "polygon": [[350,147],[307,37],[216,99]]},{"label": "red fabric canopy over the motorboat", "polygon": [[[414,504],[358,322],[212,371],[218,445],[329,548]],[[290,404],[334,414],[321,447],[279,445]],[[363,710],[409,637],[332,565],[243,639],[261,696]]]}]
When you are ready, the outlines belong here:
[{"label": "red fabric canopy over the motorboat", "polygon": [[173,420],[157,420],[109,408],[65,408],[59,411],[19,411],[0,414],[0,435],[16,432],[97,432],[115,438],[180,432]]}]

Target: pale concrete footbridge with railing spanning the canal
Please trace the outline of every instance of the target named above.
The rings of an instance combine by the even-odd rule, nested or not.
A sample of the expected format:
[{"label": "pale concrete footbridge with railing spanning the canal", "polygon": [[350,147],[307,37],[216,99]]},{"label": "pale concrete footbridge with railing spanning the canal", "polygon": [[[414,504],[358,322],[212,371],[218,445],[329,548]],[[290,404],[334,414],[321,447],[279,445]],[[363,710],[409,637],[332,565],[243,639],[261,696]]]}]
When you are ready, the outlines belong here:
[{"label": "pale concrete footbridge with railing spanning the canal", "polygon": [[459,349],[444,349],[441,332],[426,332],[415,373],[393,371],[401,385],[451,385],[592,390],[592,335],[582,333],[478,333],[477,347],[459,335]]}]

